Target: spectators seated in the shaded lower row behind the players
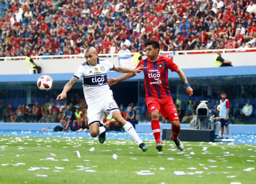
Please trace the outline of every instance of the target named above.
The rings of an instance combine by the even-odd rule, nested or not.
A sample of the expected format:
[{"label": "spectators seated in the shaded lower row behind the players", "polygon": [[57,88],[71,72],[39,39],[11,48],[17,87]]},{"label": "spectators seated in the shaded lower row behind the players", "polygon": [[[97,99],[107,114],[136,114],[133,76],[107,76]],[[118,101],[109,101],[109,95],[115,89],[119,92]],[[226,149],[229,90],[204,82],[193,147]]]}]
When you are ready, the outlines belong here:
[{"label": "spectators seated in the shaded lower row behind the players", "polygon": [[[180,99],[174,99],[175,107],[178,112],[181,123],[189,123],[192,120],[193,115],[195,115],[196,109],[200,101],[181,101]],[[212,109],[218,111],[217,106],[219,101],[215,98],[209,98],[210,105]],[[70,111],[72,112],[72,117],[70,118],[70,126],[73,128],[73,122],[79,125],[80,119],[82,123],[86,125],[87,122],[87,104],[84,98],[80,98],[79,95],[71,95],[67,99],[65,104],[60,104],[54,101],[45,101],[45,103],[31,103],[28,105],[20,104],[19,106],[12,106],[11,103],[0,102],[0,122],[41,122],[41,123],[58,123],[61,120],[67,120],[69,116],[64,117],[63,115],[67,113],[67,106],[70,106]],[[234,100],[230,100],[230,122],[232,124],[237,124],[238,121],[251,121],[256,118],[256,105],[253,98],[251,102],[245,99],[236,106]],[[137,103],[129,103],[127,106],[124,104],[119,104],[119,109],[122,117],[131,124],[135,126],[140,122],[151,121],[151,115],[148,111],[145,103],[138,106]],[[76,118],[77,116],[77,118]],[[166,121],[162,115],[160,115],[160,122],[169,123]],[[121,128],[115,120],[111,117],[105,117],[104,123],[110,127]],[[82,127],[81,125],[79,127]],[[84,126],[83,126],[84,127]],[[78,130],[78,127],[75,128]],[[113,128],[114,129],[114,128]]]}]

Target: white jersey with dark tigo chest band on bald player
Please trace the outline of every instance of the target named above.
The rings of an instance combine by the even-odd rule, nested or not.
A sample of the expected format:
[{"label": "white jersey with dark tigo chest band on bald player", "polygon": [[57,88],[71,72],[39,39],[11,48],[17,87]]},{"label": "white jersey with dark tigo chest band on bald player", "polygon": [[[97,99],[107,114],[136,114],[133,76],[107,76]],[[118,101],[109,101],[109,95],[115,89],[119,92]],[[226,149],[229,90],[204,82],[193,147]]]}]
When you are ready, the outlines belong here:
[{"label": "white jersey with dark tigo chest band on bald player", "polygon": [[97,58],[96,66],[90,66],[87,62],[81,63],[74,77],[83,77],[83,90],[86,103],[92,104],[101,101],[109,95],[113,95],[108,86],[107,72],[115,66],[108,60]]}]

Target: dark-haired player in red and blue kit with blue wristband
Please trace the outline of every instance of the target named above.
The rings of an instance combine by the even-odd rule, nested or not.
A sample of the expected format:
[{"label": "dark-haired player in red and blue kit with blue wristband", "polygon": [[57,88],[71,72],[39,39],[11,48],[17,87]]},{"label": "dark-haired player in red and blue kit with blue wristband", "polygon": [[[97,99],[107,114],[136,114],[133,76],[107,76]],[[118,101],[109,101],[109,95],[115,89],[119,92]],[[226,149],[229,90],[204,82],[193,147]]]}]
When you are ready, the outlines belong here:
[{"label": "dark-haired player in red and blue kit with blue wristband", "polygon": [[[183,150],[183,144],[178,139],[180,133],[180,122],[173,103],[171,93],[168,85],[168,69],[172,72],[177,72],[181,80],[185,83],[186,91],[189,96],[193,95],[193,89],[189,86],[186,75],[178,66],[173,63],[173,58],[165,58],[159,55],[160,45],[155,40],[150,40],[145,43],[146,55],[145,60],[140,60],[137,67],[144,65],[144,84],[145,84],[145,103],[148,106],[148,110],[151,113],[151,128],[154,134],[154,138],[157,143],[156,149],[163,151],[163,142],[160,139],[160,124],[159,113],[163,115],[165,119],[168,119],[172,124],[171,139],[175,142],[179,150]],[[108,83],[110,86],[118,83],[119,81],[134,77],[132,73],[126,73],[119,78],[110,78]]]}]

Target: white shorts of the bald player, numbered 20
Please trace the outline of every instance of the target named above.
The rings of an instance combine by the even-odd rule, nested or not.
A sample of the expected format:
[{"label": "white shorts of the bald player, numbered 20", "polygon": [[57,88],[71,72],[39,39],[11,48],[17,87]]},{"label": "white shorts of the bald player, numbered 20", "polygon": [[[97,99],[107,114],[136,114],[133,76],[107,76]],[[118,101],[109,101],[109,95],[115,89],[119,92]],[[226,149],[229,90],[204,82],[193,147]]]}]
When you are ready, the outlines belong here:
[{"label": "white shorts of the bald player, numbered 20", "polygon": [[103,125],[103,119],[105,115],[111,115],[114,111],[119,111],[119,107],[113,98],[113,95],[108,95],[97,103],[88,104],[87,120],[88,126],[93,123]]}]

